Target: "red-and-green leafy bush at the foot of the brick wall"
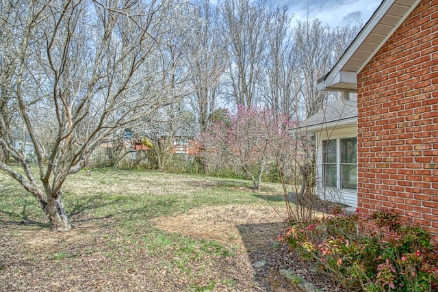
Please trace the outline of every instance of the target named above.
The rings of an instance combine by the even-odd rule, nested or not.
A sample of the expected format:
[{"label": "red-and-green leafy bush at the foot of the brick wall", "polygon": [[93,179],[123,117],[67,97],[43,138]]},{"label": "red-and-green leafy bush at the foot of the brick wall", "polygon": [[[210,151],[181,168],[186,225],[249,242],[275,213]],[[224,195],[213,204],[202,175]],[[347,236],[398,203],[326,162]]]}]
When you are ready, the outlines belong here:
[{"label": "red-and-green leafy bush at the foot of the brick wall", "polygon": [[[359,231],[373,223],[370,233]],[[279,236],[348,291],[438,291],[438,250],[431,235],[394,211],[291,222]]]}]

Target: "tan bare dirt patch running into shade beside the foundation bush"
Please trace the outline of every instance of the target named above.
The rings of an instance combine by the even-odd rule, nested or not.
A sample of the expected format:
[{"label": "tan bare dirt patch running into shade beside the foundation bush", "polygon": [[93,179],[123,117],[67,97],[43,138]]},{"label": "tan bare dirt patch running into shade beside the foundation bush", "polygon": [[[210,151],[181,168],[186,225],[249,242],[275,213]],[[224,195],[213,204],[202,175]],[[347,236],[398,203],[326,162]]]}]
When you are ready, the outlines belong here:
[{"label": "tan bare dirt patch running into shade beside the foundation bush", "polygon": [[177,217],[157,217],[153,223],[169,233],[235,245],[247,254],[244,261],[249,265],[266,261],[262,267],[253,267],[255,280],[262,291],[302,291],[279,272],[281,269],[298,270],[320,291],[338,291],[328,277],[312,269],[311,264],[302,261],[297,254],[290,253],[287,246],[277,243],[276,237],[285,228],[285,223],[272,207],[207,207]]}]

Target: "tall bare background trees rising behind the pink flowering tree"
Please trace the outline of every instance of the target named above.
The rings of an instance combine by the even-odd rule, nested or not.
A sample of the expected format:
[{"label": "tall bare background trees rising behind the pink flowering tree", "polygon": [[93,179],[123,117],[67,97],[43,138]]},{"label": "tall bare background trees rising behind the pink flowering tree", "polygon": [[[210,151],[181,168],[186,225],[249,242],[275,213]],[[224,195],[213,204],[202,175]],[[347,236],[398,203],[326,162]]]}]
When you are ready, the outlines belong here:
[{"label": "tall bare background trees rising behind the pink flowering tree", "polygon": [[[172,169],[175,157],[170,150],[175,141],[181,135],[191,140],[209,131],[223,109],[256,106],[277,118],[304,120],[337,97],[317,90],[317,80],[333,66],[359,27],[295,21],[286,6],[264,0],[186,5],[196,25],[185,34],[188,41],[179,40],[175,50],[188,70],[186,91],[155,112],[153,122],[136,128],[155,144],[147,155],[151,168]],[[199,167],[211,171],[226,168],[222,162],[210,163],[209,168],[202,159],[187,165],[196,166],[189,171]]]}]

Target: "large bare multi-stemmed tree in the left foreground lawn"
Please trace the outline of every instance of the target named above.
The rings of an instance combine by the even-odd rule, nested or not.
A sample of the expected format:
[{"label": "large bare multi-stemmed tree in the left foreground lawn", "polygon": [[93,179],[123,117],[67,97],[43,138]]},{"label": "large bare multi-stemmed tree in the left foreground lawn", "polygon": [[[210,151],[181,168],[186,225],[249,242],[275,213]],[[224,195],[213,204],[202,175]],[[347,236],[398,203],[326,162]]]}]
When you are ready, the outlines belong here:
[{"label": "large bare multi-stemmed tree in the left foreground lawn", "polygon": [[[10,145],[11,123],[0,113],[0,145],[21,170],[0,169],[33,194],[52,230],[70,230],[62,185],[85,165],[104,137],[135,125],[175,100],[162,45],[172,1],[3,1],[2,31],[12,35],[16,64],[2,92],[18,107],[18,124],[34,144],[38,168]],[[3,18],[2,18],[3,20]],[[3,49],[3,47],[2,47]],[[3,55],[5,52],[1,52]],[[2,66],[2,70],[6,70]],[[2,72],[2,81],[3,79]],[[3,93],[2,93],[3,98]],[[144,122],[144,120],[143,120]],[[42,144],[49,127],[51,142]]]}]

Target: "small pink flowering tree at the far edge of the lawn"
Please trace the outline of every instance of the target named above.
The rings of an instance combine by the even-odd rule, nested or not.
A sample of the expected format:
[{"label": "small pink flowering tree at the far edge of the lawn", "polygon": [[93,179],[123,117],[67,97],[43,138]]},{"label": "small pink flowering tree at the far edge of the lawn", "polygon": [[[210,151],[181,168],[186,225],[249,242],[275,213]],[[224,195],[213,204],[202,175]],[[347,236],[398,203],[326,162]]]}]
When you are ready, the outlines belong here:
[{"label": "small pink flowering tree at the far edge of the lawn", "polygon": [[227,110],[225,114],[223,121],[214,122],[199,136],[203,145],[200,154],[208,161],[241,170],[253,181],[254,189],[259,189],[266,165],[275,161],[280,150],[273,142],[292,140],[287,131],[290,122],[255,106],[238,106],[235,112]]}]

